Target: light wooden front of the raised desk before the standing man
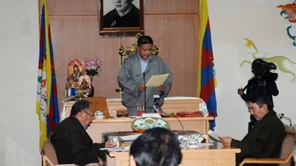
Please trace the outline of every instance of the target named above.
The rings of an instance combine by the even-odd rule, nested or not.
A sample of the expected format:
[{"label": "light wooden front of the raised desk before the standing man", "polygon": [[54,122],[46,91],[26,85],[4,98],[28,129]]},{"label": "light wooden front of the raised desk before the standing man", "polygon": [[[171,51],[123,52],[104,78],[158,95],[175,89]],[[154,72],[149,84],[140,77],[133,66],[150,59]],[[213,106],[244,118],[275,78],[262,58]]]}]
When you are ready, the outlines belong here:
[{"label": "light wooden front of the raised desk before the standing man", "polygon": [[[208,133],[209,120],[213,120],[214,117],[179,117],[182,123],[175,117],[164,118],[165,121],[169,122],[171,130],[195,130],[199,133]],[[109,131],[132,131],[132,121],[135,120],[130,117],[122,117],[116,119],[103,119],[93,120],[93,123],[87,129],[88,135],[93,139],[94,142],[102,141],[102,133]]]}]

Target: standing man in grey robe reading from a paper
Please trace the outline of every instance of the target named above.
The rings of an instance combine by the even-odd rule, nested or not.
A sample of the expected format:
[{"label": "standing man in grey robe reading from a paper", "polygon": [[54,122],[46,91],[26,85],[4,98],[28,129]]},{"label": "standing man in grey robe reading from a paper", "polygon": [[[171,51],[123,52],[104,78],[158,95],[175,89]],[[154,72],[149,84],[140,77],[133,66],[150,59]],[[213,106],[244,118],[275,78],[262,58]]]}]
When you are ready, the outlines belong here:
[{"label": "standing man in grey robe reading from a paper", "polygon": [[[151,55],[152,38],[140,36],[137,45],[138,53],[131,55],[123,61],[117,77],[119,87],[123,89],[122,103],[127,107],[129,115],[136,115],[138,105],[143,105],[145,102],[146,112],[155,112],[153,109],[153,95],[160,95],[160,106],[162,106],[164,97],[169,94],[173,82],[172,74],[167,64],[160,57]],[[169,73],[169,77],[162,85],[158,85],[158,87],[145,87],[144,79],[148,81],[153,75],[165,73]]]}]

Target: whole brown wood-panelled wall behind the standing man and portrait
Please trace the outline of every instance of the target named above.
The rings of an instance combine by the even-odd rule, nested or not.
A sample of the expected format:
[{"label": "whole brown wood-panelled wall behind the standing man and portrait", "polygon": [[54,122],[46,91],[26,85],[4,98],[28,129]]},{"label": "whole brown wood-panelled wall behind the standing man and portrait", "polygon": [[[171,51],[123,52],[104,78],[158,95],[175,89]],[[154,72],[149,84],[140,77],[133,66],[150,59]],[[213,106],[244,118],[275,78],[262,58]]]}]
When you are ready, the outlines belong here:
[{"label": "whole brown wood-panelled wall behind the standing man and portrait", "polygon": [[[94,77],[95,96],[119,98],[115,92],[119,47],[136,38],[101,38],[97,0],[47,1],[60,108],[64,100],[66,66],[73,59],[99,59],[102,71]],[[145,0],[145,34],[173,72],[169,96],[196,96],[199,0]]]}]

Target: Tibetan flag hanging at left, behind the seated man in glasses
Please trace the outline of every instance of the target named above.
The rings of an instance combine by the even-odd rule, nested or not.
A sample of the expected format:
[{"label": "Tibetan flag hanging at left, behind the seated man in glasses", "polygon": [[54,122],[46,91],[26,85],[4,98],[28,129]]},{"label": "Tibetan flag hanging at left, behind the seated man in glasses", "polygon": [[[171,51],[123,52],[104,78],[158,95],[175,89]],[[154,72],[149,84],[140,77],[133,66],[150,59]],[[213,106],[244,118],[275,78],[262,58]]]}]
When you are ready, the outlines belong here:
[{"label": "Tibetan flag hanging at left, behind the seated man in glasses", "polygon": [[41,0],[42,14],[40,22],[40,51],[38,61],[38,84],[36,113],[39,117],[39,148],[60,122],[56,74],[53,64],[53,48],[47,15],[46,0]]}]

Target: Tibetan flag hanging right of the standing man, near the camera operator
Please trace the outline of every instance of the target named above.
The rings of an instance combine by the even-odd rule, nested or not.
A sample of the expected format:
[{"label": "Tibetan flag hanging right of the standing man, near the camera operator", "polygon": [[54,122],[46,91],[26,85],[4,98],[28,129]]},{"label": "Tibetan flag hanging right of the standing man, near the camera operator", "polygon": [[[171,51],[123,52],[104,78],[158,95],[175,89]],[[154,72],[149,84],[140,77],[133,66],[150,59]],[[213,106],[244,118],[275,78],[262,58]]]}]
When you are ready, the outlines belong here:
[{"label": "Tibetan flag hanging right of the standing man, near the camera operator", "polygon": [[[206,102],[209,116],[217,117],[217,102],[214,91],[214,87],[216,87],[216,79],[214,77],[214,56],[212,53],[207,0],[201,0],[200,6],[197,96]],[[214,130],[215,126],[214,120],[211,120],[210,129]]]}]

